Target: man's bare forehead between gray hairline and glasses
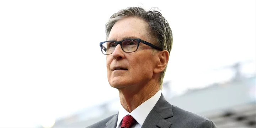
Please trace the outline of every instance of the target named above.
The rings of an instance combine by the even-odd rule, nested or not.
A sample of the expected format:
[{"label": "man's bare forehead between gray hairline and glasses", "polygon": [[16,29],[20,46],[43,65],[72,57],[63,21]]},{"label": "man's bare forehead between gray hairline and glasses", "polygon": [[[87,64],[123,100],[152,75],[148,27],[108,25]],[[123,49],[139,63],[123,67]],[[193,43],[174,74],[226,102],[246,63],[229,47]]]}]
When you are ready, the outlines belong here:
[{"label": "man's bare forehead between gray hairline and glasses", "polygon": [[123,18],[112,27],[108,40],[121,41],[126,37],[145,39],[147,23],[137,17]]}]

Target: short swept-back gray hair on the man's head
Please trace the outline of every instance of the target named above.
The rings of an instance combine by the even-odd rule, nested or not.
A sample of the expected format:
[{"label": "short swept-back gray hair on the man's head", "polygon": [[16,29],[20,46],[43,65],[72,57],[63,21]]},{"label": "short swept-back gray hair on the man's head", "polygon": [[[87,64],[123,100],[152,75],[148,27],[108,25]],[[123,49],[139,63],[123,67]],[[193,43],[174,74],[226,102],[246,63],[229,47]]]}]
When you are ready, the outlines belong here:
[{"label": "short swept-back gray hair on the man's head", "polygon": [[[142,7],[128,7],[127,9],[122,9],[117,13],[113,14],[106,23],[107,38],[110,34],[112,27],[118,20],[126,17],[137,17],[148,23],[148,32],[149,35],[153,37],[151,39],[153,39],[155,45],[161,49],[167,50],[170,55],[173,40],[171,28],[169,26],[169,23],[162,16],[162,14],[159,11],[155,11],[154,9],[157,8],[145,11]],[[164,71],[161,72],[159,78],[160,89],[162,89],[162,82],[164,79],[166,68],[164,69]]]}]

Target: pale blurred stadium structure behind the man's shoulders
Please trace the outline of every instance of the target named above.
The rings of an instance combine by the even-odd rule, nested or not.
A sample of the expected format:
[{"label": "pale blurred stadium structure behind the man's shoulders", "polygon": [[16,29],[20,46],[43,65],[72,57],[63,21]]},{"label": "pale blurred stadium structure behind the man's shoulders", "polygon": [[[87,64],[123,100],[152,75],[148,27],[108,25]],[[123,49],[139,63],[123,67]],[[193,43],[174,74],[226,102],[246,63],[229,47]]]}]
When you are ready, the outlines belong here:
[{"label": "pale blurred stadium structure behind the man's shoulders", "polygon": [[[172,105],[200,114],[215,122],[217,127],[255,128],[256,127],[256,75],[243,73],[241,65],[229,67],[234,71],[233,79],[205,86],[201,89],[187,90],[182,95],[175,95],[171,82],[165,82],[162,93]],[[249,62],[253,63],[254,62]],[[119,98],[92,106],[71,116],[59,118],[53,127],[87,127],[103,118],[118,112]]]}]

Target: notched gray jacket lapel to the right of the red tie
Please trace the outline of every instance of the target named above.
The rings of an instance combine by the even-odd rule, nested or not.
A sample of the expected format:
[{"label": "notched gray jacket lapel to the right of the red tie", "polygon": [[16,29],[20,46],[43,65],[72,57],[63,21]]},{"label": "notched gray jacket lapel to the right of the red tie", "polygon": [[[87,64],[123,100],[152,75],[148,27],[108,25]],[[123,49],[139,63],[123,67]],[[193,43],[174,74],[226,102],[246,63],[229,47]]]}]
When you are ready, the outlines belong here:
[{"label": "notched gray jacket lapel to the right of the red tie", "polygon": [[171,104],[165,100],[161,93],[161,97],[146,117],[142,128],[169,128],[172,123],[165,119],[172,116],[174,114],[172,113]]}]

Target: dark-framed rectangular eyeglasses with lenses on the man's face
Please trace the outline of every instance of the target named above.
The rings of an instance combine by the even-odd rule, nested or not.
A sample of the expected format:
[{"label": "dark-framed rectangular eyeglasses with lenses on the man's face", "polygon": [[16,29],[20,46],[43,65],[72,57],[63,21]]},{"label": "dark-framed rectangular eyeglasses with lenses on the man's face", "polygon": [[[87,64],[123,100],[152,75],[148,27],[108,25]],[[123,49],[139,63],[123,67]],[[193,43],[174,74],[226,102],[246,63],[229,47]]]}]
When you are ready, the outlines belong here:
[{"label": "dark-framed rectangular eyeglasses with lenses on the man's face", "polygon": [[123,41],[104,41],[100,43],[100,47],[101,47],[101,52],[104,55],[112,54],[117,44],[120,44],[124,52],[131,53],[131,52],[135,52],[138,49],[140,42],[154,49],[162,50],[161,48],[155,46],[154,44],[143,41],[142,39],[124,39]]}]

